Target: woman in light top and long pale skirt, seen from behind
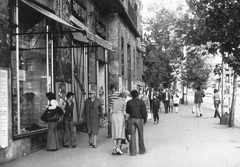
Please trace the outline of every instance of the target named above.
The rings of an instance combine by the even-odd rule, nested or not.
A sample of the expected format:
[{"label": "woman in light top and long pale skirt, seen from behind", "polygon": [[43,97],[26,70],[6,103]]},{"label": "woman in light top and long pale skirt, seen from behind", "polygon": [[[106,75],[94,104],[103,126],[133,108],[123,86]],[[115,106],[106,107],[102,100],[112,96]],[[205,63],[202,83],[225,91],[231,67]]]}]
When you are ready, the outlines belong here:
[{"label": "woman in light top and long pale skirt, seen from behind", "polygon": [[124,94],[120,93],[118,99],[113,100],[112,104],[112,139],[113,139],[113,155],[122,155],[120,149],[122,140],[125,139],[125,114],[126,102],[123,98]]}]

